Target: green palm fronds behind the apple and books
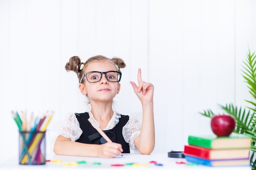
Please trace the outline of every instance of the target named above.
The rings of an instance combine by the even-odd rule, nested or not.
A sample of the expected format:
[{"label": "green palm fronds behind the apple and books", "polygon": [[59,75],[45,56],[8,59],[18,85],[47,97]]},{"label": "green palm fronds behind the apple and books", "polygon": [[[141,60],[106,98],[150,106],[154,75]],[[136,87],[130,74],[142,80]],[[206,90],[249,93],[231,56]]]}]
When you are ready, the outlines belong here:
[{"label": "green palm fronds behind the apple and books", "polygon": [[[249,88],[249,93],[253,97],[253,101],[245,100],[248,106],[245,108],[234,106],[234,104],[221,105],[220,108],[225,111],[225,113],[233,116],[236,119],[236,128],[234,133],[246,134],[252,138],[252,146],[250,150],[250,163],[252,165],[252,170],[256,170],[256,54],[255,52],[251,54],[250,50],[247,53],[247,58],[243,61],[244,70],[242,70],[243,78],[247,83]],[[211,118],[213,113],[211,109],[204,110],[200,114]],[[220,115],[220,114],[218,114]],[[255,156],[254,156],[255,155]]]}]

